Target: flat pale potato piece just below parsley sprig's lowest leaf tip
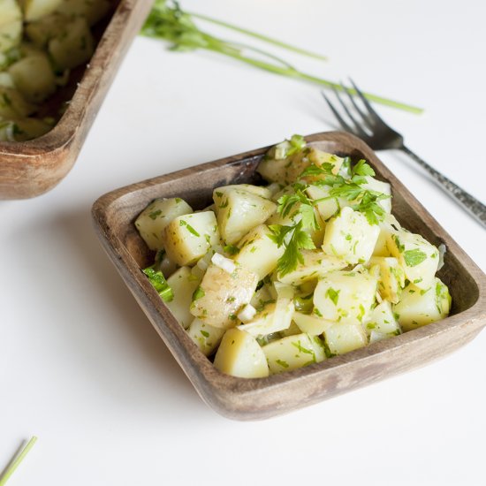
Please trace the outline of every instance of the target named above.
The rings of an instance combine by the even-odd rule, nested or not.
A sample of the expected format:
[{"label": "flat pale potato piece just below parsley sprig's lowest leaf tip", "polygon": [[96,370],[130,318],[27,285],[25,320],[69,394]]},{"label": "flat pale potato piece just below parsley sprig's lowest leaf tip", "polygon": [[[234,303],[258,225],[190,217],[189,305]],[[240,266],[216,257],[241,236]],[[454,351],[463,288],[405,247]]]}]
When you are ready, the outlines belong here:
[{"label": "flat pale potato piece just below parsley sprig's lowest leaf tip", "polygon": [[300,285],[303,282],[320,278],[332,270],[341,270],[347,263],[336,256],[324,254],[321,250],[300,250],[303,263],[298,262],[297,268],[286,273],[280,274],[277,278],[280,282],[288,285]]}]

